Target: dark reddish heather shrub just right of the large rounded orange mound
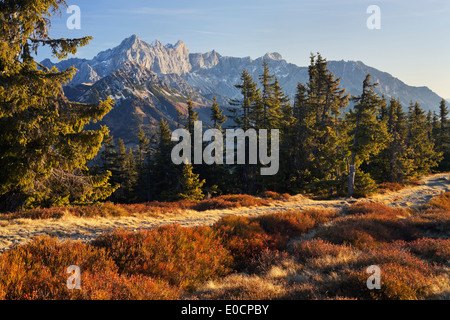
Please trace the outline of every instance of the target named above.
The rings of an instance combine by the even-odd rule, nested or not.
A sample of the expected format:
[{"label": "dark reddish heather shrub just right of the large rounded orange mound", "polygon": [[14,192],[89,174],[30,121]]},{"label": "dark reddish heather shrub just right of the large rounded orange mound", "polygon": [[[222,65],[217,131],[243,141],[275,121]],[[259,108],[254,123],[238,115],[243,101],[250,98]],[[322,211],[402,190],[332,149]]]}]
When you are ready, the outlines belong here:
[{"label": "dark reddish heather shrub just right of the large rounded orange mound", "polygon": [[280,239],[268,235],[256,221],[241,216],[225,216],[213,226],[223,245],[231,252],[235,268],[245,268],[248,259],[266,249],[276,249]]}]

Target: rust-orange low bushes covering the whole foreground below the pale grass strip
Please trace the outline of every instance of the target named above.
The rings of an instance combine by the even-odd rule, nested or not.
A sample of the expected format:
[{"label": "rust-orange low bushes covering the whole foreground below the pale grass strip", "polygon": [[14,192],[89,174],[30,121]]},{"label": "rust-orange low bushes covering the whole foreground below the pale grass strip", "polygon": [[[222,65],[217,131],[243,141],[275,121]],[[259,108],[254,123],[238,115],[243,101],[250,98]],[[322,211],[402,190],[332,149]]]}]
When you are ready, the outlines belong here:
[{"label": "rust-orange low bushes covering the whole foreground below the pale grass strip", "polygon": [[[225,216],[210,227],[116,230],[91,244],[40,237],[0,255],[0,299],[442,298],[450,287],[445,201],[419,212],[358,203],[340,216]],[[151,206],[169,210],[135,210]],[[66,287],[69,265],[82,270],[81,290]],[[381,290],[367,288],[371,265],[381,269]]]}]

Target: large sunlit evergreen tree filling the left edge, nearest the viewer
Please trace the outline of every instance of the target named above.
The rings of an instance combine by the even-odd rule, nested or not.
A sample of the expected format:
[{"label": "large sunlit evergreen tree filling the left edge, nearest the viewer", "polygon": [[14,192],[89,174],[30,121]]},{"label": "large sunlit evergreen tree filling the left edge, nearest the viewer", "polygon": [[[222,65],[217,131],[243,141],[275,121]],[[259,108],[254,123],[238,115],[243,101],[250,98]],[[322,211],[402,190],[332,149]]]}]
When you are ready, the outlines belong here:
[{"label": "large sunlit evergreen tree filling the left edge, nearest the viewer", "polygon": [[54,57],[64,59],[92,39],[49,37],[50,18],[64,7],[63,0],[0,1],[3,209],[96,201],[113,191],[107,173],[90,176],[86,166],[99,151],[108,129],[84,129],[102,119],[111,110],[112,101],[69,102],[62,85],[70,81],[75,69],[49,70],[32,56],[46,45]]}]

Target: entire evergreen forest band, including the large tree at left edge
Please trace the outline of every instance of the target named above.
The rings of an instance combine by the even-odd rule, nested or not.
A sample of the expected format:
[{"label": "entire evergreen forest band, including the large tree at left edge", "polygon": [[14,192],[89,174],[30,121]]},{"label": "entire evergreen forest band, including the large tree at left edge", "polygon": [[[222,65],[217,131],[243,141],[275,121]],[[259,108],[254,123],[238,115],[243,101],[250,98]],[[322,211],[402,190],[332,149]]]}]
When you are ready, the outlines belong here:
[{"label": "entire evergreen forest band, including the large tree at left edge", "polygon": [[[112,110],[111,98],[96,104],[69,101],[62,86],[75,68],[48,69],[34,59],[41,46],[65,59],[92,40],[49,37],[49,19],[63,4],[0,3],[1,211],[265,191],[359,197],[385,183],[404,184],[449,169],[445,100],[436,106],[438,112],[426,112],[415,102],[402,106],[395,97],[378,94],[369,74],[360,94],[351,96],[319,53],[311,55],[309,81],[298,83],[293,99],[264,61],[258,79],[242,71],[236,83],[241,98],[226,106],[214,99],[210,106],[209,128],[220,130],[224,139],[227,128],[279,130],[276,175],[260,175],[260,162],[175,165],[172,132],[165,121],[155,136],[141,130],[139,144],[126,148],[106,126],[88,129]],[[198,120],[193,105],[188,96],[188,111],[180,112],[177,121],[191,134]]]}]

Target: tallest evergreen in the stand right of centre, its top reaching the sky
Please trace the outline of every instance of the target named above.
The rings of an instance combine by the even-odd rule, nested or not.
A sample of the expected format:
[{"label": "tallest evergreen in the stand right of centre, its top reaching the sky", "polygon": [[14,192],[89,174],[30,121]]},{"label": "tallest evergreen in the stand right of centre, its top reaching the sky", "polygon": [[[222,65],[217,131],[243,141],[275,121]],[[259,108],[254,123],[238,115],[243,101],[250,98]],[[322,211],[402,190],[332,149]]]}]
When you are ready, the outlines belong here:
[{"label": "tallest evergreen in the stand right of centre, its top reaching the sky", "polygon": [[330,194],[343,183],[345,171],[342,110],[348,95],[320,54],[311,56],[309,81],[297,88],[297,181],[300,190]]}]

